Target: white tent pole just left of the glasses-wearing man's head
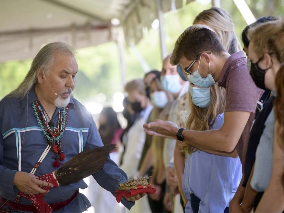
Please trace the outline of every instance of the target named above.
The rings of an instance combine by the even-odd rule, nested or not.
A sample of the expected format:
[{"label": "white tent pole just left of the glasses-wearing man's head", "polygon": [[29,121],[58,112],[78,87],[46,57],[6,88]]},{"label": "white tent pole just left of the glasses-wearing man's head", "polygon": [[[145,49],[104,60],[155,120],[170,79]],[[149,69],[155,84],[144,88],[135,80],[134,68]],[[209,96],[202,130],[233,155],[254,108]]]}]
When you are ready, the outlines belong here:
[{"label": "white tent pole just left of the glasses-wearing man's head", "polygon": [[165,28],[164,28],[164,19],[163,11],[161,7],[161,0],[156,0],[157,13],[159,19],[159,35],[160,35],[160,46],[161,46],[161,57],[162,60],[167,56],[166,42],[165,42]]}]

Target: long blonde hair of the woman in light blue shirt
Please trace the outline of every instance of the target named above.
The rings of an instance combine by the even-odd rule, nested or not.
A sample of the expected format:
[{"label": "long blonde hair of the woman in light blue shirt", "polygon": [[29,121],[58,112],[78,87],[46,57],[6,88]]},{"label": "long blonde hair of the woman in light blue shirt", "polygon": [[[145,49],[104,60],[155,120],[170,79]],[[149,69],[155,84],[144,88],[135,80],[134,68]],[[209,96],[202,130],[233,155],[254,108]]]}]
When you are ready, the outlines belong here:
[{"label": "long blonde hair of the woman in light blue shirt", "polygon": [[[224,112],[225,109],[225,89],[217,84],[210,87],[210,104],[206,108],[194,105],[192,96],[189,93],[189,107],[191,113],[186,120],[186,129],[195,131],[209,130],[215,123],[216,117]],[[192,154],[196,148],[187,144],[180,144],[182,152]]]}]

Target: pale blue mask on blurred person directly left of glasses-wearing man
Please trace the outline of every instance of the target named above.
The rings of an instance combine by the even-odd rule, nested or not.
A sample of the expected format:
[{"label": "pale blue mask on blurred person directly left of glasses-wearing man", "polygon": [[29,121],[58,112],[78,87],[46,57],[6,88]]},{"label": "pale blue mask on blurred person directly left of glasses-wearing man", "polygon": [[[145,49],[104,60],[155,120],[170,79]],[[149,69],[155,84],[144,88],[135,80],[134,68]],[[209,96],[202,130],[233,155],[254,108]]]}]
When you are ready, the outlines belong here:
[{"label": "pale blue mask on blurred person directly left of glasses-wearing man", "polygon": [[161,85],[164,90],[168,91],[169,93],[177,93],[180,91],[182,85],[179,82],[179,75],[164,75],[161,76]]}]

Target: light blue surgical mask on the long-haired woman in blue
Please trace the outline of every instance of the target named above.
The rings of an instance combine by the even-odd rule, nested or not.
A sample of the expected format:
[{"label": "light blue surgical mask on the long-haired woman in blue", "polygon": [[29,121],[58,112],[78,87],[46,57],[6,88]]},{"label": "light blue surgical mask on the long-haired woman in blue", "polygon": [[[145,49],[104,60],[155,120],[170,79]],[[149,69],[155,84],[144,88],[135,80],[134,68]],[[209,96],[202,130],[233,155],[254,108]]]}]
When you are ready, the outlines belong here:
[{"label": "light blue surgical mask on the long-haired woman in blue", "polygon": [[210,88],[190,87],[190,94],[194,105],[205,108],[210,103]]}]

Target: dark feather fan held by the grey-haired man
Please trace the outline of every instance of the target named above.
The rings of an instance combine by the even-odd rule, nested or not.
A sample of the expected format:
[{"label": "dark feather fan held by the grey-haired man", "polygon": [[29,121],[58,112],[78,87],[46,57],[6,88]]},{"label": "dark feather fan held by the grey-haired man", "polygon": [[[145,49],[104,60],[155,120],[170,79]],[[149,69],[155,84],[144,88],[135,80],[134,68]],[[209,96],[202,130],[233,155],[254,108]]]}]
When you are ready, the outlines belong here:
[{"label": "dark feather fan held by the grey-haired man", "polygon": [[62,186],[69,185],[97,173],[115,148],[115,145],[110,144],[77,154],[54,172],[58,183]]}]

